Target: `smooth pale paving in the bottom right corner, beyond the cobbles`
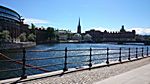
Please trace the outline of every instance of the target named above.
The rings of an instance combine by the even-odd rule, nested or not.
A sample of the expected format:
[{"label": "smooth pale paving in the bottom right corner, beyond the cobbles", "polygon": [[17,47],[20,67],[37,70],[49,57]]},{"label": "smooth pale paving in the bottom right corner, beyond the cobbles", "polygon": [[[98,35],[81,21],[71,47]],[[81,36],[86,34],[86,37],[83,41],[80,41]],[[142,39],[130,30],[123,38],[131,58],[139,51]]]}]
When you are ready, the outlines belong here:
[{"label": "smooth pale paving in the bottom right corner, beyond the cobbles", "polygon": [[150,84],[150,64],[94,84]]}]

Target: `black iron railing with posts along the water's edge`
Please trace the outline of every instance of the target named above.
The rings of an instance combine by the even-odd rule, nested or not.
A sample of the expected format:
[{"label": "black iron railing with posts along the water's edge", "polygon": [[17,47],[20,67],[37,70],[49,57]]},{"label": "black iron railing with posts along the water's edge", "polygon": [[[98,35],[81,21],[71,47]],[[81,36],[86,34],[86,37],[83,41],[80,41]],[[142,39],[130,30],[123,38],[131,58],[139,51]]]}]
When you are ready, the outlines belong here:
[{"label": "black iron railing with posts along the water's edge", "polygon": [[[145,50],[145,51],[144,51]],[[64,52],[64,56],[56,56],[56,57],[40,57],[40,58],[26,58],[26,55],[28,52]],[[89,69],[92,68],[92,65],[94,64],[95,61],[100,61],[103,60],[106,62],[107,65],[110,64],[111,60],[113,59],[117,59],[120,63],[123,62],[123,59],[128,59],[129,61],[132,60],[133,56],[134,58],[138,59],[141,55],[141,57],[145,57],[145,56],[149,56],[149,48],[147,47],[146,49],[142,48],[119,48],[119,49],[110,49],[110,48],[106,48],[106,49],[79,49],[79,50],[68,50],[67,47],[65,48],[65,50],[26,50],[25,48],[23,48],[22,53],[23,53],[23,57],[22,57],[22,61],[18,61],[20,59],[11,59],[7,56],[4,56],[2,53],[1,55],[4,56],[5,58],[7,58],[7,60],[0,60],[0,62],[16,62],[22,65],[22,75],[21,75],[21,79],[25,79],[27,77],[27,72],[26,70],[29,68],[33,68],[33,69],[37,69],[37,70],[41,70],[41,71],[50,71],[50,70],[46,70],[44,67],[51,67],[51,66],[63,66],[63,71],[68,71],[69,65],[71,64],[88,64]],[[69,53],[70,52],[89,52],[88,54],[75,54],[73,56],[71,56]],[[145,52],[145,53],[144,53]],[[76,59],[76,58],[82,58],[82,57],[86,57],[88,58],[88,60],[77,60],[77,61],[69,61],[69,59]],[[63,59],[63,63],[54,63],[54,64],[47,64],[47,65],[39,65],[39,66],[34,66],[34,65],[30,65],[28,64],[26,61],[37,61],[37,60],[48,60],[48,59]],[[8,61],[10,60],[10,61]],[[13,70],[17,70],[17,69],[12,69]],[[20,68],[18,69],[20,70]],[[6,71],[11,71],[11,69],[8,70],[0,70],[1,72],[6,72]]]}]

